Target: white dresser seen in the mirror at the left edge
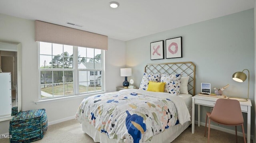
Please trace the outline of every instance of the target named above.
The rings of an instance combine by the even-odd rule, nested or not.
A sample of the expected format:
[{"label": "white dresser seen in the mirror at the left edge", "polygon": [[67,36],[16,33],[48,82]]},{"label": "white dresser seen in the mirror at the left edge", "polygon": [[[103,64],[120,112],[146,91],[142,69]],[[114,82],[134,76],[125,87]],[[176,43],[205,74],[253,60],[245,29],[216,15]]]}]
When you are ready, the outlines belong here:
[{"label": "white dresser seen in the mirror at the left edge", "polygon": [[0,73],[0,118],[12,114],[12,82],[11,73]]}]

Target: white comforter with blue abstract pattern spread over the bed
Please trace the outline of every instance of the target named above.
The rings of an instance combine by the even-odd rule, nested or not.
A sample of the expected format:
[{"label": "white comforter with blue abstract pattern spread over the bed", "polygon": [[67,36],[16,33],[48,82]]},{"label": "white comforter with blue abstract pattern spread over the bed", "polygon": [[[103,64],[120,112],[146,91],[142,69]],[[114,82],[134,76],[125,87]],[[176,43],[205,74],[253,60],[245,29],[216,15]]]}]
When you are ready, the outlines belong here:
[{"label": "white comforter with blue abstract pattern spread over the bed", "polygon": [[126,89],[85,98],[76,119],[88,121],[118,142],[144,143],[169,127],[190,121],[190,114],[179,96]]}]

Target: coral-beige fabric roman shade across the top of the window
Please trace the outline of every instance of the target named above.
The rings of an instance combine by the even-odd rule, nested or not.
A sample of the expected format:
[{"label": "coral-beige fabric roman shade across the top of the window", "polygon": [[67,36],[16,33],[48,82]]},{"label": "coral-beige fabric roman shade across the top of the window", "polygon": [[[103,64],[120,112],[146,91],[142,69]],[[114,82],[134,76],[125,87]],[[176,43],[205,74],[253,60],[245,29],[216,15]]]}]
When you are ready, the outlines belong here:
[{"label": "coral-beige fabric roman shade across the top of the window", "polygon": [[35,40],[108,50],[108,36],[36,20]]}]

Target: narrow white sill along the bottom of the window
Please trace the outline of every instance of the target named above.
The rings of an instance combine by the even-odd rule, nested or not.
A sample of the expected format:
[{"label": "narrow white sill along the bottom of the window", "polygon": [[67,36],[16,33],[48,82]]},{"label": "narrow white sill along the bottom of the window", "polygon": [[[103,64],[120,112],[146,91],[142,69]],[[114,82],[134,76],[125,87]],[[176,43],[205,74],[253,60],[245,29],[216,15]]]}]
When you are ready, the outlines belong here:
[{"label": "narrow white sill along the bottom of the window", "polygon": [[92,96],[92,95],[102,94],[102,93],[106,93],[106,92],[97,92],[97,93],[92,93],[92,94],[83,94],[83,95],[74,95],[74,96],[67,96],[67,97],[60,97],[60,98],[43,99],[43,100],[35,101],[34,103],[36,105],[47,104],[47,103],[51,103],[51,102],[58,102],[58,101],[76,99],[76,98],[86,98],[86,97],[89,97],[89,96]]}]

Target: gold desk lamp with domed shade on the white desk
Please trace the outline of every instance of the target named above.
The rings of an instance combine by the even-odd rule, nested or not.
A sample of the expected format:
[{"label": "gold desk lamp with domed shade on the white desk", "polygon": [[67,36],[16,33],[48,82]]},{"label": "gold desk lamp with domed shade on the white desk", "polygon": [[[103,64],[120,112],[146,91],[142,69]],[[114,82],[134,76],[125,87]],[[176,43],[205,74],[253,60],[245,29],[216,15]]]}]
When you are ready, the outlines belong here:
[{"label": "gold desk lamp with domed shade on the white desk", "polygon": [[[229,97],[228,99],[236,99],[238,101],[247,101],[249,99],[249,86],[250,86],[250,72],[248,69],[244,69],[248,71],[248,94],[247,94],[247,99],[245,98],[239,98],[239,97]],[[246,74],[244,73],[244,70],[242,72],[235,72],[232,75],[233,80],[237,82],[244,82],[247,78]]]}]

